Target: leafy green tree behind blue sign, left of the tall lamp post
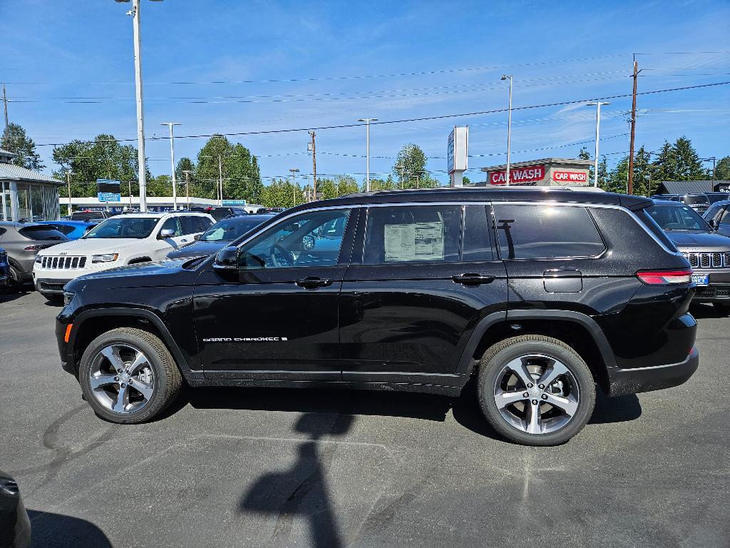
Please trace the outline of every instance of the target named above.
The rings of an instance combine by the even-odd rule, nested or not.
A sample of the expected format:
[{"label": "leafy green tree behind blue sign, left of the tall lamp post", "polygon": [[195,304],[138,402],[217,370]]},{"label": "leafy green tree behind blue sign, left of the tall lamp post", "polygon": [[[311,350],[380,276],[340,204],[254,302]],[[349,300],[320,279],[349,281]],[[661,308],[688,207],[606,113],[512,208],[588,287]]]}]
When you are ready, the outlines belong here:
[{"label": "leafy green tree behind blue sign, left of the tall lamp post", "polygon": [[[53,161],[60,169],[53,176],[66,180],[66,170],[71,171],[71,191],[75,197],[96,196],[96,179],[119,180],[120,192],[129,195],[129,186],[134,196],[139,196],[137,178],[137,148],[120,145],[113,135],[99,134],[93,141],[73,140],[66,145],[53,148]],[[152,175],[145,165],[146,178]],[[61,186],[62,197],[68,196],[66,186]]]}]

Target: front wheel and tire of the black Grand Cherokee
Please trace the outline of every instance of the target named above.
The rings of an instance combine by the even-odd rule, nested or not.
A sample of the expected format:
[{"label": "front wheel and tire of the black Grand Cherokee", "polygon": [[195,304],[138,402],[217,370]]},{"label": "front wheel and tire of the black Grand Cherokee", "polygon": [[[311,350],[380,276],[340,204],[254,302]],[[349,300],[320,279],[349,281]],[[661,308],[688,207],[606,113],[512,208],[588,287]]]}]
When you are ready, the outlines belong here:
[{"label": "front wheel and tire of the black Grand Cherokee", "polygon": [[96,414],[111,422],[137,424],[174,401],[182,377],[160,339],[121,327],[99,335],[87,347],[79,383]]}]

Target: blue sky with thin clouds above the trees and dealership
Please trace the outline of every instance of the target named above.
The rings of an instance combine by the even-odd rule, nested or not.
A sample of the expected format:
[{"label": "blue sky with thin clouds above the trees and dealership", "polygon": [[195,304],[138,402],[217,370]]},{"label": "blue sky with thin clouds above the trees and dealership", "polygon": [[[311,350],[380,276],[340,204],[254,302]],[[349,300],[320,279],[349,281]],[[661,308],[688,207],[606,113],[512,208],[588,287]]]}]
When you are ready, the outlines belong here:
[{"label": "blue sky with thin clouds above the trees and dealership", "polygon": [[[39,145],[136,137],[129,6],[0,0],[9,117]],[[495,110],[507,106],[503,72],[514,76],[515,108],[630,94],[632,53],[639,92],[726,82],[729,26],[728,1],[143,0],[150,170],[169,173],[169,142],[153,138],[166,135],[164,121],[182,123],[184,136]],[[601,153],[612,163],[629,150],[630,108],[630,97],[604,107]],[[638,108],[637,143],[650,150],[685,134],[701,156],[730,154],[730,85],[639,96]],[[372,126],[371,172],[391,170],[415,142],[446,180],[457,124],[470,128],[472,180],[504,163],[507,114],[494,113]],[[512,161],[574,157],[583,141],[592,151],[594,124],[594,107],[580,104],[515,110]],[[312,170],[306,131],[229,138],[259,156],[264,177]],[[176,138],[177,158],[204,141]],[[39,147],[47,171],[52,150]],[[364,127],[318,130],[317,151],[318,174],[363,178]]]}]

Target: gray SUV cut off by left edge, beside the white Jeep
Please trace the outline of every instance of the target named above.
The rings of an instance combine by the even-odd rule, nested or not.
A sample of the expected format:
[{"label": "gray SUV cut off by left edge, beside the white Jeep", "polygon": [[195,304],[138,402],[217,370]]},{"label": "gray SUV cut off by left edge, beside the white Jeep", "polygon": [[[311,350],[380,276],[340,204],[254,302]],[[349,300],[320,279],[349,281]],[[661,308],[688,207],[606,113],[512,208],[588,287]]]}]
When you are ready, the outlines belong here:
[{"label": "gray SUV cut off by left edge, beside the white Jeep", "polygon": [[67,242],[69,238],[47,224],[0,222],[0,246],[7,251],[11,290],[33,283],[33,263],[41,249]]}]

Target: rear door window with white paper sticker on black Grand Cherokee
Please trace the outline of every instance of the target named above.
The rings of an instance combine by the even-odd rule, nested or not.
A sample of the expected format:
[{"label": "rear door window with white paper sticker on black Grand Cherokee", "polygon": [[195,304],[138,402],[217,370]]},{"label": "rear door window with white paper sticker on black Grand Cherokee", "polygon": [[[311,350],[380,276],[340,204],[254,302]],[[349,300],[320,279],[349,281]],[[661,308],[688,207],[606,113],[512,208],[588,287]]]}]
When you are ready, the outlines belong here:
[{"label": "rear door window with white paper sticker on black Grand Cherokee", "polygon": [[460,237],[458,205],[369,208],[363,262],[458,262]]}]

